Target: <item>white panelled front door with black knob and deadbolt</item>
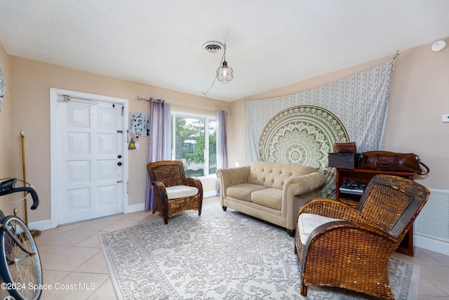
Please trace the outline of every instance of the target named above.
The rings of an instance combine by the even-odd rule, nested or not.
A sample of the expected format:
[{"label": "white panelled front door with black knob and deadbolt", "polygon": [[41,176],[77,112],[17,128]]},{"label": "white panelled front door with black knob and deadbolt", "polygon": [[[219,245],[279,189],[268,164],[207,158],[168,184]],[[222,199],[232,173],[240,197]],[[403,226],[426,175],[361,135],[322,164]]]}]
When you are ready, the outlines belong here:
[{"label": "white panelled front door with black knob and deadbolt", "polygon": [[57,106],[57,225],[123,212],[123,104],[58,95]]}]

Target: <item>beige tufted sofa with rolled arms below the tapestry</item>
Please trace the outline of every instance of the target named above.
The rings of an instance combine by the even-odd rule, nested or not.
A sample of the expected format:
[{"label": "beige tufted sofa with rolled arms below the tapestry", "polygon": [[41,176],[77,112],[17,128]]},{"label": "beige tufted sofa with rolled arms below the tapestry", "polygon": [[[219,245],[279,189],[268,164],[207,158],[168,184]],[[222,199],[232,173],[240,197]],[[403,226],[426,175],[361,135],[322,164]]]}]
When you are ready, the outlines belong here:
[{"label": "beige tufted sofa with rolled arms below the tapestry", "polygon": [[218,169],[220,200],[227,207],[276,224],[295,235],[300,208],[321,197],[326,176],[312,167],[274,162],[253,162],[250,166]]}]

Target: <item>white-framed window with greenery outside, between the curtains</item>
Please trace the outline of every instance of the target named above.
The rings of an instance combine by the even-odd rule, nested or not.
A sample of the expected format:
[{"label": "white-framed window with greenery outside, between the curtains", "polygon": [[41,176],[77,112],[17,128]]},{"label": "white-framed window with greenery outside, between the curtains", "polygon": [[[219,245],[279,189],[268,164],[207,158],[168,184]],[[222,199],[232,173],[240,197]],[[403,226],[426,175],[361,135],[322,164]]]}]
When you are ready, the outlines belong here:
[{"label": "white-framed window with greenery outside, between the curtains", "polygon": [[217,171],[215,117],[171,113],[172,159],[184,162],[185,175],[207,176]]}]

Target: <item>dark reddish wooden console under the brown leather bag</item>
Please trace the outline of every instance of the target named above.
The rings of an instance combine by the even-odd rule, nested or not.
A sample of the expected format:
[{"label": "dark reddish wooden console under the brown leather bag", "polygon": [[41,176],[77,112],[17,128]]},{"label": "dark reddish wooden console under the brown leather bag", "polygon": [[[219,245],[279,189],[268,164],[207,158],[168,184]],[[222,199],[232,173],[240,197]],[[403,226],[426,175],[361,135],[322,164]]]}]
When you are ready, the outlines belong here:
[{"label": "dark reddish wooden console under the brown leather bag", "polygon": [[[373,178],[377,174],[388,174],[394,176],[401,176],[404,178],[408,178],[413,180],[413,173],[405,173],[405,172],[390,172],[390,171],[376,171],[376,170],[366,170],[366,169],[336,169],[336,178],[335,178],[335,199],[346,202],[348,204],[357,203],[360,200],[361,192],[354,193],[346,193],[340,191],[340,186],[342,182],[345,180],[357,180],[365,183],[365,186],[368,185],[371,178]],[[402,240],[401,244],[399,244],[396,252],[406,254],[408,256],[413,256],[413,224],[408,228],[408,233]]]}]

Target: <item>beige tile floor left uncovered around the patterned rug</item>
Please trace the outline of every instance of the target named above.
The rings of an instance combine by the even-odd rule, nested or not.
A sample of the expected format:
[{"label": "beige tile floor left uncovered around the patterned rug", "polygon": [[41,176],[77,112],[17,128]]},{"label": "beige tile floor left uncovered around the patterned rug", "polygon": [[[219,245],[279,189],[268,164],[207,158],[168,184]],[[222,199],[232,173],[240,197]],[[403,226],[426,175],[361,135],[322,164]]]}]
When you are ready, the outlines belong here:
[{"label": "beige tile floor left uncovered around the patterned rug", "polygon": [[[203,205],[217,202],[217,197],[210,197]],[[42,299],[116,299],[98,235],[160,218],[158,213],[139,211],[43,230],[36,242],[44,283],[52,289],[45,290]],[[449,300],[449,256],[421,248],[415,249],[414,257],[394,256],[420,265],[417,299]]]}]

